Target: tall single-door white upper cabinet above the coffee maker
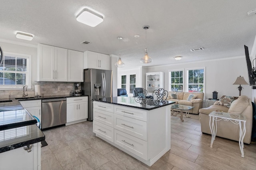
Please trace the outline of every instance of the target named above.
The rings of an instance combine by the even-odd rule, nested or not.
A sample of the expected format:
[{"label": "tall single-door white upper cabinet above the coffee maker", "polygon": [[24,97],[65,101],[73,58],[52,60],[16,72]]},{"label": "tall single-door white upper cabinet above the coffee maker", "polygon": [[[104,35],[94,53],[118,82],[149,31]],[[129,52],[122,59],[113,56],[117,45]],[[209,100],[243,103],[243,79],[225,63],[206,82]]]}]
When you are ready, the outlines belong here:
[{"label": "tall single-door white upper cabinet above the coffee maker", "polygon": [[68,81],[84,81],[84,53],[68,50]]}]

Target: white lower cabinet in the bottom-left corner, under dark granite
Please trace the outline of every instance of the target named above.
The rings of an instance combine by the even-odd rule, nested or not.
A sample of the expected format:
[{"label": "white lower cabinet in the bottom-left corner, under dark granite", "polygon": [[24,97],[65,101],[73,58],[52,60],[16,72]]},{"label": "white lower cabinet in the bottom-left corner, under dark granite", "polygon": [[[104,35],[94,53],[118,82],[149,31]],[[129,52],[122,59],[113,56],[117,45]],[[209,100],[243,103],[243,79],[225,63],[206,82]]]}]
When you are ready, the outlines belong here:
[{"label": "white lower cabinet in the bottom-left corner, under dark granite", "polygon": [[41,142],[32,144],[31,152],[23,147],[0,153],[1,170],[41,170]]}]

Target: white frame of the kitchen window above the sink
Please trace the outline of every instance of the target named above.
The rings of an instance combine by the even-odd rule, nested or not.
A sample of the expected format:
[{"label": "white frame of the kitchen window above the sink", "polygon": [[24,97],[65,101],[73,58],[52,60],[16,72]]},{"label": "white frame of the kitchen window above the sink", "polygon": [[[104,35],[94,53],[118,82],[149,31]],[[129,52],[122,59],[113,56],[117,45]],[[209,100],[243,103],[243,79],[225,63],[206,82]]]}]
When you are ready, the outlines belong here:
[{"label": "white frame of the kitchen window above the sink", "polygon": [[[27,89],[31,89],[31,55],[21,54],[21,53],[13,53],[4,51],[4,55],[10,55],[10,57],[19,57],[26,58],[27,62],[27,73],[26,73],[26,87]],[[19,71],[14,71],[15,73],[20,73]],[[0,90],[21,90],[25,85],[0,85]]]}]

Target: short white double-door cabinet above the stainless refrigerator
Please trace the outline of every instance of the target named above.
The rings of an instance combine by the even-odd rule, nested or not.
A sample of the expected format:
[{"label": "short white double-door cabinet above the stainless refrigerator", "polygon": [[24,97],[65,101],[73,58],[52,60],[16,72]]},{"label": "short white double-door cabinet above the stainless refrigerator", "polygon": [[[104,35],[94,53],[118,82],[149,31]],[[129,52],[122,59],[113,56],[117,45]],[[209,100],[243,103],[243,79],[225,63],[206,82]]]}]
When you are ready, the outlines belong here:
[{"label": "short white double-door cabinet above the stainless refrigerator", "polygon": [[84,69],[110,70],[110,56],[93,51],[84,52]]}]

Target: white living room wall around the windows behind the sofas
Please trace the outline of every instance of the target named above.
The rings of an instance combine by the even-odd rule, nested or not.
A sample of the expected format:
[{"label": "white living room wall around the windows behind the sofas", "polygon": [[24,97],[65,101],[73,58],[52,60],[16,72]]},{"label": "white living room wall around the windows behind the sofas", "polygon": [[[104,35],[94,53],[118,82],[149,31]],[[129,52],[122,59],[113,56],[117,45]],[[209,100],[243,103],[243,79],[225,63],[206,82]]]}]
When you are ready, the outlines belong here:
[{"label": "white living room wall around the windows behind the sofas", "polygon": [[[233,85],[240,75],[248,82],[248,72],[245,56],[230,57],[225,59],[213,59],[208,61],[180,63],[149,67],[149,72],[164,72],[164,88],[168,89],[169,71],[184,69],[184,81],[186,82],[186,69],[205,67],[205,99],[212,98],[212,92],[218,92],[218,98],[222,95],[239,96],[237,87]],[[142,75],[146,76],[146,75]],[[252,89],[249,85],[242,86],[241,95],[252,98]]]}]

